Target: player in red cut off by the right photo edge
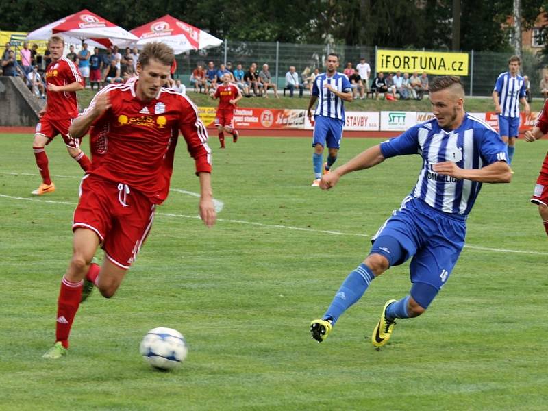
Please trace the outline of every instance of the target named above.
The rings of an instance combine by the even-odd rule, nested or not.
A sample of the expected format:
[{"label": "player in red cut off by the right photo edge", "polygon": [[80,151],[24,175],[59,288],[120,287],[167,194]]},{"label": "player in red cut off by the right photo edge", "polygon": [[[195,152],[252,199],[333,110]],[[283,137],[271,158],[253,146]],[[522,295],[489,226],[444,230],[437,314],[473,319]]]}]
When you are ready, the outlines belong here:
[{"label": "player in red cut off by the right photo edge", "polygon": [[[543,110],[538,113],[532,130],[525,132],[525,141],[533,142],[548,133],[548,100],[545,100]],[[540,174],[536,179],[536,186],[531,202],[538,205],[538,214],[543,219],[544,229],[548,235],[548,153],[544,158]]]}]

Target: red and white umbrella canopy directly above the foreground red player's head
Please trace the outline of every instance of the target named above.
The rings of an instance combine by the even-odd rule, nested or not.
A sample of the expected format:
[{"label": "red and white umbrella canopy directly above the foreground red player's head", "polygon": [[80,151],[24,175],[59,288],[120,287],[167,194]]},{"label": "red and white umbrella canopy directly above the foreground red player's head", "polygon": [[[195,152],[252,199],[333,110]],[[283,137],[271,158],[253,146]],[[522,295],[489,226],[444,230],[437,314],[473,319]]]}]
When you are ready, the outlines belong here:
[{"label": "red and white umbrella canopy directly above the foreground red player's head", "polygon": [[190,50],[208,49],[223,44],[223,40],[204,32],[184,21],[166,14],[145,25],[133,29],[132,34],[138,37],[133,42],[138,48],[148,42],[159,41],[169,45],[175,54]]}]

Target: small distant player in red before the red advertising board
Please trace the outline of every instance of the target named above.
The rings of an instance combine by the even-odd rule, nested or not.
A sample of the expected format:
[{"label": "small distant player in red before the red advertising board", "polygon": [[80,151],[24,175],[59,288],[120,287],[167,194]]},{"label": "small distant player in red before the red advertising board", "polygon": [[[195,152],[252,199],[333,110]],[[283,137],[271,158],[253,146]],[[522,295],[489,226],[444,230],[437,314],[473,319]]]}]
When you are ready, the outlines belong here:
[{"label": "small distant player in red before the red advertising board", "polygon": [[238,130],[234,129],[233,117],[236,103],[242,99],[242,93],[236,84],[230,82],[229,73],[225,73],[221,77],[221,85],[217,87],[215,93],[211,95],[212,99],[219,99],[219,107],[215,114],[215,125],[219,132],[219,142],[221,149],[225,148],[225,134],[223,130],[232,134],[232,141],[238,141]]}]

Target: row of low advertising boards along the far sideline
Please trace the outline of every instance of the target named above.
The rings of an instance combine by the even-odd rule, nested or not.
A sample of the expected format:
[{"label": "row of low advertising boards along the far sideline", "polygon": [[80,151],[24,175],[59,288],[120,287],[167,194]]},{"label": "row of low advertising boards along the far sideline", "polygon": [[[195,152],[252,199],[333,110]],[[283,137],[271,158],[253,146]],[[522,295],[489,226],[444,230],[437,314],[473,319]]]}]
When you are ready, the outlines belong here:
[{"label": "row of low advertising boards along the far sideline", "polygon": [[[206,127],[213,127],[216,108],[199,107],[198,115]],[[495,112],[471,112],[471,115],[498,131],[499,119]],[[352,132],[403,132],[423,121],[434,118],[431,112],[406,112],[406,111],[382,111],[382,112],[345,112],[345,131]],[[525,116],[520,113],[519,131],[525,132],[532,129],[538,112],[531,112]],[[237,129],[255,130],[312,130],[314,121],[310,122],[306,116],[306,110],[274,109],[274,108],[236,108],[234,111],[234,127]]]}]

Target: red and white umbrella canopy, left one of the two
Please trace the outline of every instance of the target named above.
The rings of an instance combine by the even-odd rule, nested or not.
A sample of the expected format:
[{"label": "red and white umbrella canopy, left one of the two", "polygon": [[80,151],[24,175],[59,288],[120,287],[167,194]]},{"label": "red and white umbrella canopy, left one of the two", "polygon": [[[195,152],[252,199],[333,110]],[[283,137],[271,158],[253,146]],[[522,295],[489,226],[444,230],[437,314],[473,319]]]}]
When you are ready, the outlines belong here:
[{"label": "red and white umbrella canopy, left one of the two", "polygon": [[134,34],[86,9],[30,32],[27,40],[47,40],[54,34],[68,43],[78,44],[89,39],[92,40],[90,46],[103,48],[138,40]]}]

